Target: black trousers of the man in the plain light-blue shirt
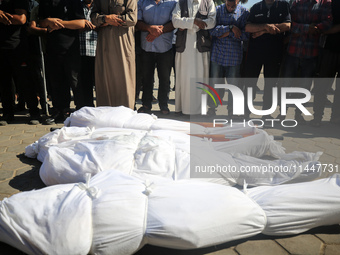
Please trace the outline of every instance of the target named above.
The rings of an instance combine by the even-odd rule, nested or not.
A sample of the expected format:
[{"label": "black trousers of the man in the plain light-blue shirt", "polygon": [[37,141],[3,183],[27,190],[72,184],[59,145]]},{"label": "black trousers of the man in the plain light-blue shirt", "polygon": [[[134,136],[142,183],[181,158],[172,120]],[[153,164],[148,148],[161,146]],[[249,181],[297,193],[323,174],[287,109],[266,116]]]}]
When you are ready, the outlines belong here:
[{"label": "black trousers of the man in the plain light-blue shirt", "polygon": [[155,67],[157,67],[159,88],[158,102],[161,110],[168,108],[170,91],[170,74],[173,63],[173,52],[170,49],[164,53],[142,51],[143,70],[143,105],[152,108],[152,92]]}]

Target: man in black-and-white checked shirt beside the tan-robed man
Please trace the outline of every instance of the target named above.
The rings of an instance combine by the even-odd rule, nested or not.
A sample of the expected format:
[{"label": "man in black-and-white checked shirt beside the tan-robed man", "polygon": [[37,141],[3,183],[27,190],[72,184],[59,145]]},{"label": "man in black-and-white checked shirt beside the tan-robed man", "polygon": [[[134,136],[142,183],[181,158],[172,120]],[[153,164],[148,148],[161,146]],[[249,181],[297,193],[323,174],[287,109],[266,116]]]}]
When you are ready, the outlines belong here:
[{"label": "man in black-and-white checked shirt beside the tan-robed man", "polygon": [[[82,9],[84,18],[91,22],[91,12],[93,7],[93,0],[83,0]],[[80,87],[83,91],[83,105],[92,106],[93,104],[93,87],[94,87],[94,62],[96,57],[97,47],[97,32],[94,30],[96,27],[89,27],[79,33],[80,42],[80,56],[81,68],[79,75]]]}]

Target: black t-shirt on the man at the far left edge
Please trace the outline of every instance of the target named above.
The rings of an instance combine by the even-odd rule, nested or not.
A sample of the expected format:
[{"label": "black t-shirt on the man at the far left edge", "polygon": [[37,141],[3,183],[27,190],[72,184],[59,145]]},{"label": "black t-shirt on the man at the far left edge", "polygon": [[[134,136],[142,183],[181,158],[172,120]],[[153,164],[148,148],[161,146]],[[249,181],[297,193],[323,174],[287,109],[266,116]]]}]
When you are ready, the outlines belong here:
[{"label": "black t-shirt on the man at the far left edge", "polygon": [[[15,14],[16,9],[28,10],[28,0],[2,0],[0,10]],[[15,49],[24,35],[22,25],[4,25],[0,23],[0,49]]]}]

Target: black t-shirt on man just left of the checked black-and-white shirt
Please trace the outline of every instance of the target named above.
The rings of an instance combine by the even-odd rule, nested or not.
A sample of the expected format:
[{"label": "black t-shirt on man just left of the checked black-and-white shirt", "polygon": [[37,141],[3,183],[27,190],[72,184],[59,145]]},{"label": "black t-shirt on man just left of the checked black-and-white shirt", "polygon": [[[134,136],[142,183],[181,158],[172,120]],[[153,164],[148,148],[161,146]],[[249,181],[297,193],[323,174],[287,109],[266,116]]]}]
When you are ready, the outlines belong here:
[{"label": "black t-shirt on man just left of the checked black-and-white shirt", "polygon": [[[40,0],[39,19],[84,19],[80,4],[79,0]],[[69,50],[79,51],[78,30],[64,28],[47,34],[47,54],[66,54]]]}]

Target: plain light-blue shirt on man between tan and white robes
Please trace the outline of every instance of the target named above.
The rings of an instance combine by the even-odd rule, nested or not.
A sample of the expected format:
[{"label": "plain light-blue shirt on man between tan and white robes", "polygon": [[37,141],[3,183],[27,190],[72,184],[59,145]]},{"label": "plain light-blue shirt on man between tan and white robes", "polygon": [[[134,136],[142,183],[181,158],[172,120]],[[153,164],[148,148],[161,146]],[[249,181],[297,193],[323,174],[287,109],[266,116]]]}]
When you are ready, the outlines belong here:
[{"label": "plain light-blue shirt on man between tan and white robes", "polygon": [[[158,4],[154,0],[138,1],[138,20],[148,25],[165,25],[171,21],[172,11],[176,6],[175,0],[161,0]],[[172,48],[173,31],[164,33],[152,42],[146,41],[149,32],[142,31],[141,46],[147,52],[163,53]]]}]

